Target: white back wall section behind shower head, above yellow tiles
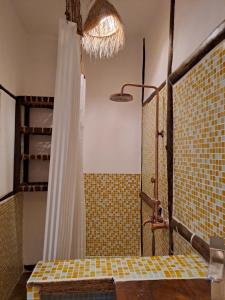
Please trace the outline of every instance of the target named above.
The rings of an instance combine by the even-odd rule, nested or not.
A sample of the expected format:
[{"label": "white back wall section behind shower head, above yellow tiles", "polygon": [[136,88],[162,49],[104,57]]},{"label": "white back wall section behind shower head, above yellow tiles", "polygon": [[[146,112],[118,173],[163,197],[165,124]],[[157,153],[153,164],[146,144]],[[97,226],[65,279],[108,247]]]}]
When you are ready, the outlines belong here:
[{"label": "white back wall section behind shower head, above yellow tiles", "polygon": [[140,173],[141,90],[130,103],[109,100],[126,82],[141,82],[142,39],[129,37],[109,60],[86,58],[87,98],[84,133],[85,173]]}]

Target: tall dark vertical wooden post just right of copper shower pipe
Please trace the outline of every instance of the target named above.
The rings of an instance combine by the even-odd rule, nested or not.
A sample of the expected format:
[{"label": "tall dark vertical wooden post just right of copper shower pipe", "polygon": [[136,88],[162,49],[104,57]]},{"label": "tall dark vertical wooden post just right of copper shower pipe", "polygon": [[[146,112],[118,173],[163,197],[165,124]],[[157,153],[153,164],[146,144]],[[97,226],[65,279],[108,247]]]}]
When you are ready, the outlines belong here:
[{"label": "tall dark vertical wooden post just right of copper shower pipe", "polygon": [[167,182],[168,182],[168,215],[169,215],[169,254],[173,254],[173,87],[169,81],[173,65],[175,0],[170,4],[169,54],[167,68]]}]

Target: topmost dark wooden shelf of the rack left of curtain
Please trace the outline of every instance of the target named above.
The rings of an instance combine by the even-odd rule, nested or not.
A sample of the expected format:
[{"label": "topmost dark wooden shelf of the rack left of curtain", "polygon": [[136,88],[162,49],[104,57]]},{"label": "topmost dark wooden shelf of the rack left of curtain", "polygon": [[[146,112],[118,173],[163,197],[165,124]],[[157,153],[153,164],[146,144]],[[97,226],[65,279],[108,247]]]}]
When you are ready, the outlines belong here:
[{"label": "topmost dark wooden shelf of the rack left of curtain", "polygon": [[39,97],[39,96],[19,96],[22,105],[30,108],[49,108],[54,107],[54,97]]}]

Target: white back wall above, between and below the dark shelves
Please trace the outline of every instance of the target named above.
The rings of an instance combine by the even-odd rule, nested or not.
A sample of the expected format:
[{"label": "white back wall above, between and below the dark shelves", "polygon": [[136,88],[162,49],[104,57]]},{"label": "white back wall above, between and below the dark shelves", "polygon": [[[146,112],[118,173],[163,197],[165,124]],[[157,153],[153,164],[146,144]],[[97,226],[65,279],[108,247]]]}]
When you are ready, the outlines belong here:
[{"label": "white back wall above, between and below the dark shelves", "polygon": [[[57,39],[48,36],[29,36],[27,58],[24,70],[24,95],[54,96]],[[51,127],[52,111],[31,109],[30,125]],[[31,153],[48,154],[49,137],[31,136]],[[49,162],[30,162],[30,181],[48,180]],[[23,243],[24,264],[31,265],[42,259],[44,245],[47,193],[24,193]]]}]

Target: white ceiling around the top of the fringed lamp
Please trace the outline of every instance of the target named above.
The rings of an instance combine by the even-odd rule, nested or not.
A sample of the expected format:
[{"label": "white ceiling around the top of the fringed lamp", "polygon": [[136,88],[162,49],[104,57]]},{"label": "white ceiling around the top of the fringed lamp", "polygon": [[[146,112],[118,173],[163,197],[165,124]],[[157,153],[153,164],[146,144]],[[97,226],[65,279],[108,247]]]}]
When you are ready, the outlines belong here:
[{"label": "white ceiling around the top of the fringed lamp", "polygon": [[[58,20],[64,16],[65,0],[11,0],[27,33],[57,36]],[[110,0],[119,11],[127,34],[142,35],[155,15],[159,0]],[[81,0],[86,14],[90,0]]]}]

